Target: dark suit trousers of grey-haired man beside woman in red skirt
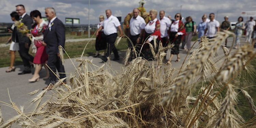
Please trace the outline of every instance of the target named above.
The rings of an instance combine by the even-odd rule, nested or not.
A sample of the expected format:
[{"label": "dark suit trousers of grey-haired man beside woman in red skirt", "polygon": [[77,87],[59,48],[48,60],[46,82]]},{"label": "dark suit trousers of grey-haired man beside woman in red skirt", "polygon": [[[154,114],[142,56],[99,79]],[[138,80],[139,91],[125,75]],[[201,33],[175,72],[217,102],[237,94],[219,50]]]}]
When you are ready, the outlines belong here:
[{"label": "dark suit trousers of grey-haired man beside woman in red skirt", "polygon": [[[49,55],[47,65],[49,66],[49,68],[51,68],[51,70],[53,70],[55,74],[56,74],[56,69],[58,70],[60,79],[66,77],[64,66],[61,64],[60,58],[57,55]],[[50,83],[52,84],[56,82],[56,78],[57,78],[53,72],[49,71],[49,74],[50,74],[49,80],[50,80]]]}]

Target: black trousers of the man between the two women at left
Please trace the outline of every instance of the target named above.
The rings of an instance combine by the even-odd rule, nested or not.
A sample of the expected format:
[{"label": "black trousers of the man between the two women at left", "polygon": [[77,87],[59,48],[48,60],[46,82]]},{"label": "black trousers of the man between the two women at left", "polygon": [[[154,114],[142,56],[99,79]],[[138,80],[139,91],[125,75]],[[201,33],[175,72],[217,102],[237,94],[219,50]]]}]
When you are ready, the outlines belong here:
[{"label": "black trousers of the man between the two women at left", "polygon": [[[30,47],[30,44],[28,44],[28,47]],[[25,43],[19,43],[19,55],[22,58],[23,65],[24,65],[24,71],[31,71],[31,65],[29,63],[33,62],[34,57],[31,56],[29,53],[29,48],[25,47]]]}]

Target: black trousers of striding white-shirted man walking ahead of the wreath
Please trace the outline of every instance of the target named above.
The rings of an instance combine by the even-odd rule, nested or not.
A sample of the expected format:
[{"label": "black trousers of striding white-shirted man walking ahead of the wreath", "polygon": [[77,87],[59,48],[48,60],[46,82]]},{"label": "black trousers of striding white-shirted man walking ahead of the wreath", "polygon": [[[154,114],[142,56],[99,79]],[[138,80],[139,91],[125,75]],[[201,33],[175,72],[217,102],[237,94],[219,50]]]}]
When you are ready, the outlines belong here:
[{"label": "black trousers of striding white-shirted man walking ahead of the wreath", "polygon": [[111,52],[113,51],[115,58],[119,58],[119,55],[115,46],[116,37],[117,37],[117,33],[106,36],[106,42],[108,42],[108,50],[106,53],[106,57],[109,57],[111,55]]}]

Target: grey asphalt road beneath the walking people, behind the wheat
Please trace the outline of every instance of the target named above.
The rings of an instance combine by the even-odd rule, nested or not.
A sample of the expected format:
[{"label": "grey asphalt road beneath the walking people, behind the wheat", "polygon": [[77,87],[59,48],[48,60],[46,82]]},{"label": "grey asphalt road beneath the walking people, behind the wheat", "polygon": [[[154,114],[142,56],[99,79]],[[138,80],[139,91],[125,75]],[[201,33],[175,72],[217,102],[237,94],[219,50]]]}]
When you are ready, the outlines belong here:
[{"label": "grey asphalt road beneath the walking people, behind the wheat", "polygon": [[[228,44],[231,45],[232,38],[229,38]],[[241,39],[241,41],[244,41],[244,38]],[[228,46],[229,46],[228,45]],[[125,52],[119,52],[121,57],[125,56]],[[112,54],[113,56],[113,54]],[[169,55],[167,55],[169,56]],[[176,60],[176,56],[173,57],[172,59],[172,67],[174,68],[180,68],[186,53],[183,49],[180,49],[180,56],[181,56],[181,61],[180,62],[174,62]],[[215,58],[216,60],[220,57],[223,56],[222,49],[220,48],[218,57]],[[93,60],[93,63],[97,66],[103,65],[101,63],[101,60],[99,58],[93,58],[91,56],[86,57],[89,60]],[[169,57],[167,58],[169,59]],[[72,59],[74,62],[74,58]],[[113,71],[120,72],[122,70],[123,64],[122,64],[122,59],[119,61],[108,61],[109,66]],[[75,63],[77,65],[77,63]],[[69,76],[70,73],[73,73],[75,71],[74,66],[72,65],[71,61],[69,59],[65,60],[65,70],[67,73],[67,76]],[[10,108],[9,106],[4,105],[5,103],[10,103],[10,98],[13,102],[16,103],[17,106],[25,106],[25,112],[31,111],[32,107],[29,105],[30,104],[30,99],[33,96],[27,95],[28,93],[44,88],[47,86],[48,81],[43,80],[42,78],[45,77],[45,70],[42,69],[40,72],[40,81],[35,82],[35,83],[29,83],[28,79],[32,77],[32,74],[24,74],[24,75],[17,75],[19,72],[23,70],[23,66],[16,66],[16,71],[15,72],[10,72],[10,73],[5,73],[5,70],[8,67],[5,68],[0,68],[0,105],[1,105],[1,110],[2,110],[2,115],[4,117],[4,120],[8,120],[11,117],[17,115],[17,112]],[[32,70],[32,72],[34,69]],[[9,94],[8,94],[9,90]],[[48,95],[51,94],[51,92],[47,93]],[[9,98],[10,96],[10,98]],[[5,102],[5,103],[3,103]],[[13,127],[19,127],[17,125],[13,125]]]}]

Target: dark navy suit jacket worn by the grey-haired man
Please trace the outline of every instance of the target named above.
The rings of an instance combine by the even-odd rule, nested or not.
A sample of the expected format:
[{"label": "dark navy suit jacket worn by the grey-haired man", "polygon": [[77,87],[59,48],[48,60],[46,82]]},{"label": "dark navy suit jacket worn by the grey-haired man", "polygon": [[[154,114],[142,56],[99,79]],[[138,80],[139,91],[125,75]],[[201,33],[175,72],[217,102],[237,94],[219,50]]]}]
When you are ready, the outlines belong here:
[{"label": "dark navy suit jacket worn by the grey-haired man", "polygon": [[65,26],[58,18],[53,20],[51,31],[50,28],[44,31],[44,42],[47,44],[46,53],[48,55],[58,54],[59,45],[61,45],[64,48]]}]

